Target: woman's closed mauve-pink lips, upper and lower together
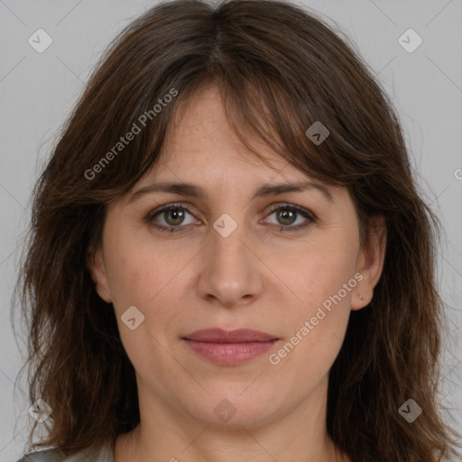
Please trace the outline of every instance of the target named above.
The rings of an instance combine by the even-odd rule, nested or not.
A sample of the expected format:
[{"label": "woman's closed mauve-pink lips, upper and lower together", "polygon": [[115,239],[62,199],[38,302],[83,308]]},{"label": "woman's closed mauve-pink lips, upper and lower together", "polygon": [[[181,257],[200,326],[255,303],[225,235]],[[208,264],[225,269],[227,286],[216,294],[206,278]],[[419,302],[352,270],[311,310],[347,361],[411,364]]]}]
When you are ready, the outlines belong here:
[{"label": "woman's closed mauve-pink lips, upper and lower together", "polygon": [[263,355],[279,338],[258,330],[239,328],[197,330],[182,340],[199,356],[217,365],[240,365]]}]

